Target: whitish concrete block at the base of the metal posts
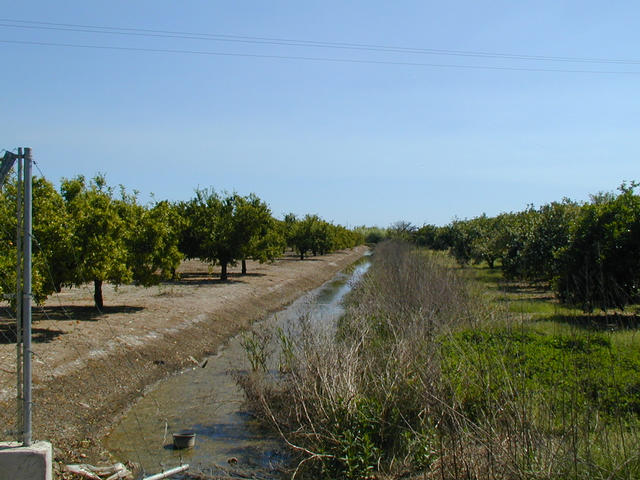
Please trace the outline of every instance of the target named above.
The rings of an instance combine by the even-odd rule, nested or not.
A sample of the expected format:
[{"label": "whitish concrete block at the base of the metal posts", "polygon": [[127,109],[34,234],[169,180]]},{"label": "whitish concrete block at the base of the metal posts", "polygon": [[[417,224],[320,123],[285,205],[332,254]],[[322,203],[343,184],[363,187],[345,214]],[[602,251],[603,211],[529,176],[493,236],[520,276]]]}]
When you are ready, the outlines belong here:
[{"label": "whitish concrete block at the base of the metal posts", "polygon": [[49,442],[0,442],[0,480],[52,480],[52,457]]}]

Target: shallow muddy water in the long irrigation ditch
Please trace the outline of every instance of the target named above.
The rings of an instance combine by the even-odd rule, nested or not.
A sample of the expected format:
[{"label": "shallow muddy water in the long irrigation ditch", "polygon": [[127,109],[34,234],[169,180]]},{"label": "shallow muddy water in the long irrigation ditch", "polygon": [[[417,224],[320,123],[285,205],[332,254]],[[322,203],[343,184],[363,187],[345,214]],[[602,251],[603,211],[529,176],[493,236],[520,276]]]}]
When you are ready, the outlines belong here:
[{"label": "shallow muddy water in the long irrigation ditch", "polygon": [[[287,309],[256,323],[254,331],[286,329],[302,315],[313,322],[334,323],[343,313],[343,297],[369,265],[364,257],[352,272],[337,274]],[[204,367],[158,383],[113,429],[106,440],[109,451],[142,465],[147,473],[189,463],[190,472],[206,475],[281,478],[278,472],[287,461],[283,444],[246,410],[244,393],[232,374],[250,368],[242,339],[242,335],[231,339]],[[180,430],[196,433],[194,448],[172,448],[171,434]]]}]

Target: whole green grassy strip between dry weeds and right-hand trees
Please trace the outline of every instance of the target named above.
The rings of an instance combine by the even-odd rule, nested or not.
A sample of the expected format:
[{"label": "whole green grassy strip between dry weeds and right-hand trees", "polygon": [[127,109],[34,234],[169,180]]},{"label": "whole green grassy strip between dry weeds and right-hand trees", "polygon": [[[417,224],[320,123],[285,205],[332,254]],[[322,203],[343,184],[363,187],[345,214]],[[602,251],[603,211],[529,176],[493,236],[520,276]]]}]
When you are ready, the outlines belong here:
[{"label": "whole green grassy strip between dry weeds and right-hand trees", "polygon": [[464,271],[506,316],[440,339],[451,403],[536,438],[549,478],[640,478],[640,305],[587,314],[499,268]]}]

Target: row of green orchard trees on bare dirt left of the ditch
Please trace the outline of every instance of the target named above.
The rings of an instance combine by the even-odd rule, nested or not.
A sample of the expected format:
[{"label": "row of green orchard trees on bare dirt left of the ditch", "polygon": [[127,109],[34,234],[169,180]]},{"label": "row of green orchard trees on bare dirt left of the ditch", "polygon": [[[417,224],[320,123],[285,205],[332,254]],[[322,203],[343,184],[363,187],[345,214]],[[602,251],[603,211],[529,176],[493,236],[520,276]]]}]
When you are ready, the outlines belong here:
[{"label": "row of green orchard trees on bare dirt left of the ditch", "polygon": [[[16,183],[0,192],[0,293],[11,302],[15,292]],[[350,248],[364,241],[355,231],[317,215],[278,220],[269,206],[251,194],[196,190],[182,202],[141,204],[137,192],[107,185],[103,175],[62,179],[58,192],[44,178],[33,182],[33,295],[44,301],[63,287],[93,283],[94,300],[103,307],[102,286],[135,283],[150,286],[176,278],[184,258],[221,267],[246,261],[273,261],[287,247],[301,259]]]}]

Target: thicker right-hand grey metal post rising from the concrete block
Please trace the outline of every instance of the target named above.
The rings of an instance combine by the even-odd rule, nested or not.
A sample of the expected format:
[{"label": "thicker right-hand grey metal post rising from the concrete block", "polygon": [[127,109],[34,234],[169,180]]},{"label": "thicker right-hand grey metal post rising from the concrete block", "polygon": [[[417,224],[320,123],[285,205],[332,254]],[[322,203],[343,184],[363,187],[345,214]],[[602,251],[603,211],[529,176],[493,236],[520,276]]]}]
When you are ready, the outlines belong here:
[{"label": "thicker right-hand grey metal post rising from the concrete block", "polygon": [[31,445],[31,149],[24,149],[24,267],[22,274],[24,435],[22,443]]}]

